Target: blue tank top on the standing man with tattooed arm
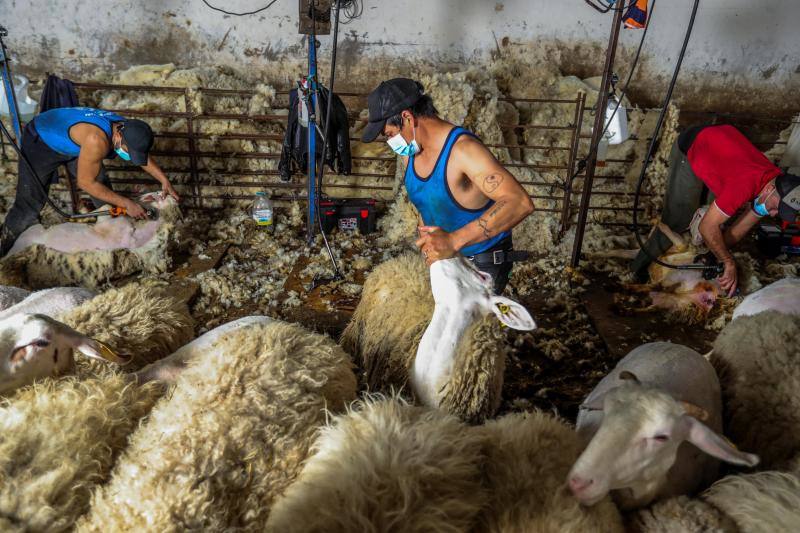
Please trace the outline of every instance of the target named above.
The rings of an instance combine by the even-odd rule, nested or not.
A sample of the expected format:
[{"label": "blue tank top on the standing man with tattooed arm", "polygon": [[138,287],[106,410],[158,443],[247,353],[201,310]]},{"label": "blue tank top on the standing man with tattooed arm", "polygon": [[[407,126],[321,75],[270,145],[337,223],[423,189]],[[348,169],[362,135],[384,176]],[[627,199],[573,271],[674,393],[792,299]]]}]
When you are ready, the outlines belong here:
[{"label": "blue tank top on the standing man with tattooed arm", "polygon": [[[417,176],[414,170],[413,155],[408,158],[408,168],[406,168],[405,175],[408,198],[417,208],[419,214],[422,215],[422,221],[426,226],[439,226],[448,233],[452,233],[469,224],[494,204],[494,200],[489,200],[481,208],[467,209],[456,201],[450,191],[450,185],[447,183],[447,163],[450,160],[453,144],[461,135],[475,137],[474,133],[461,127],[455,127],[450,130],[430,176],[427,178]],[[471,256],[485,252],[508,237],[508,235],[509,232],[503,231],[488,240],[465,246],[460,250],[461,254]]]}]

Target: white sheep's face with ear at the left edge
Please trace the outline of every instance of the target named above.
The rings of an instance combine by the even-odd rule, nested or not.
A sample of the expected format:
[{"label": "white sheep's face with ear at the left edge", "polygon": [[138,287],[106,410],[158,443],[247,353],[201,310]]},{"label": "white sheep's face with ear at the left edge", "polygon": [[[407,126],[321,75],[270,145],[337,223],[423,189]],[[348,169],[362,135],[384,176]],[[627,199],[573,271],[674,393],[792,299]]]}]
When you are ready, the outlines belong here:
[{"label": "white sheep's face with ear at the left edge", "polygon": [[48,316],[20,314],[1,321],[0,394],[70,371],[73,350],[96,359],[114,359],[101,343]]}]

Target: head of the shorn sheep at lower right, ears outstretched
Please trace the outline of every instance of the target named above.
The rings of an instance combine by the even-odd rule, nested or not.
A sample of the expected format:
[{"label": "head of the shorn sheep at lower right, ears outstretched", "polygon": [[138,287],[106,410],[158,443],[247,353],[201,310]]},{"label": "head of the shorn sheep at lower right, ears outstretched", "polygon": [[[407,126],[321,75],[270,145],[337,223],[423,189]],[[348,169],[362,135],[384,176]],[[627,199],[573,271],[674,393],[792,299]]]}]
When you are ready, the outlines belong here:
[{"label": "head of the shorn sheep at lower right, ears outstretched", "polygon": [[[623,374],[631,379],[629,372]],[[684,441],[723,461],[758,463],[757,456],[738,451],[703,424],[699,419],[708,416],[705,411],[638,381],[613,388],[583,408],[603,411],[600,428],[567,479],[584,505],[598,503],[612,490],[625,491],[621,503],[626,508],[651,502],[666,485]]]}]

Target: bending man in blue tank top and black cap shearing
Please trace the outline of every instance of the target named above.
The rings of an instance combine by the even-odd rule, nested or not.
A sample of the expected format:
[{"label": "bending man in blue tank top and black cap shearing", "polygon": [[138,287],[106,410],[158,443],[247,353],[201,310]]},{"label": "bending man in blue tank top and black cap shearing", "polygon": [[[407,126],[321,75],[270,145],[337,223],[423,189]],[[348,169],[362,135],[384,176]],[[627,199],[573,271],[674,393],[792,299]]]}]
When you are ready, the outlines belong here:
[{"label": "bending man in blue tank top and black cap shearing", "polygon": [[177,200],[167,176],[148,154],[152,146],[153,131],[146,122],[100,109],[61,107],[34,117],[25,126],[20,148],[36,174],[20,158],[14,205],[0,230],[0,257],[23,231],[37,223],[61,165],[77,178],[78,187],[92,197],[95,207],[110,204],[125,208],[134,218],[147,216],[139,204],[111,190],[103,159],[117,156],[141,166],[161,183],[164,193]]}]

